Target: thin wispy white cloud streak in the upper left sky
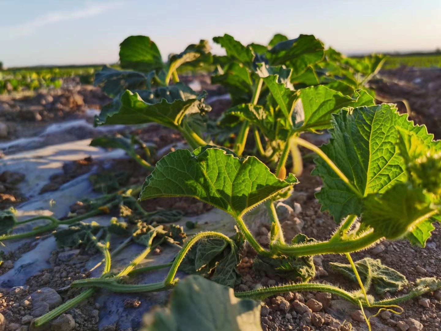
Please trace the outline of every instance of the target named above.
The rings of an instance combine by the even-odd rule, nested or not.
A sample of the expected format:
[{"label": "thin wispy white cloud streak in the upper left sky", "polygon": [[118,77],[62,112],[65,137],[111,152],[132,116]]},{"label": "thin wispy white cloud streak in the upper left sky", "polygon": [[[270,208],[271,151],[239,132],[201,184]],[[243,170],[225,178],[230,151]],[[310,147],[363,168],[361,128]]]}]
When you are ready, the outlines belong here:
[{"label": "thin wispy white cloud streak in the upper left sky", "polygon": [[97,16],[106,11],[119,8],[122,5],[122,2],[112,1],[106,3],[89,3],[86,4],[85,7],[74,11],[50,11],[28,22],[10,26],[0,26],[0,31],[2,31],[0,41],[26,37],[36,33],[37,30],[43,26]]}]

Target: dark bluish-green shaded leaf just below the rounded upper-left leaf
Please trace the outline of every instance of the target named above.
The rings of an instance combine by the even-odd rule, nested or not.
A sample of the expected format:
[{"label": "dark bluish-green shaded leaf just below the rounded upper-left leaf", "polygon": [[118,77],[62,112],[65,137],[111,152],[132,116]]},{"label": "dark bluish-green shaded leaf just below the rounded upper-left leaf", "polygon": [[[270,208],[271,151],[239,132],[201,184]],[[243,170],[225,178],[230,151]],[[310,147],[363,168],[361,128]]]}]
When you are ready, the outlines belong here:
[{"label": "dark bluish-green shaded leaf just below the rounded upper-left leaf", "polygon": [[144,89],[149,85],[148,75],[137,71],[122,71],[104,66],[95,74],[94,85],[101,87],[105,94],[114,98],[125,90]]}]

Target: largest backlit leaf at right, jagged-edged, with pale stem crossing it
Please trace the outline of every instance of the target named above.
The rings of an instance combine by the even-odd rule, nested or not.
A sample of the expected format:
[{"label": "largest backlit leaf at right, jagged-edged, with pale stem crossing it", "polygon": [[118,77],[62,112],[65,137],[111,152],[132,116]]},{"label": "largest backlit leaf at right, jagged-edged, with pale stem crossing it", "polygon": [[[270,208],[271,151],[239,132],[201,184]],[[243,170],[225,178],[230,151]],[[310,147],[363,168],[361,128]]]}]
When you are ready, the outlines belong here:
[{"label": "largest backlit leaf at right, jagged-edged, with pale stem crossing it", "polygon": [[425,128],[414,126],[390,104],[359,107],[351,113],[342,111],[334,115],[332,124],[332,139],[321,150],[355,185],[358,193],[321,158],[316,159],[317,167],[312,174],[323,179],[323,188],[316,194],[322,211],[329,211],[340,222],[349,214],[361,214],[361,197],[384,193],[394,184],[407,181],[397,145],[397,129],[419,135]]}]

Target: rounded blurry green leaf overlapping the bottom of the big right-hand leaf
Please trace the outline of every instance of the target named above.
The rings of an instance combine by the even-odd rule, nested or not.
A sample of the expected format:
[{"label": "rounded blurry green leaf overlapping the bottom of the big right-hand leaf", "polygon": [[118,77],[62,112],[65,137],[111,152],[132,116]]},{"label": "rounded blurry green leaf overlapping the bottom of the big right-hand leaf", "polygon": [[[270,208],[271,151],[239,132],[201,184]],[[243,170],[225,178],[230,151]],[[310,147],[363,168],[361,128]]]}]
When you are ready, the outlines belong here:
[{"label": "rounded blurry green leaf overlapping the bottom of the big right-hand leaf", "polygon": [[[425,221],[423,217],[431,211],[431,199],[421,188],[399,183],[385,193],[363,199],[362,222],[387,239],[398,239]],[[426,223],[422,226],[426,228],[420,231],[429,230]]]}]

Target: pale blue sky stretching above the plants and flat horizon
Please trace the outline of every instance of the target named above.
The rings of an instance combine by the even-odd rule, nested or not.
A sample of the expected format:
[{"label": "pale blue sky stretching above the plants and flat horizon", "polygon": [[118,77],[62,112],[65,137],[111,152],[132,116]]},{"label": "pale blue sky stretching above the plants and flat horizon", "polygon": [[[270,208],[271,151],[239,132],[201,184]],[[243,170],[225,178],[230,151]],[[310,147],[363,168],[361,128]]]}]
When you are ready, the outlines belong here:
[{"label": "pale blue sky stretching above the plants and flat horizon", "polygon": [[441,48],[440,0],[0,0],[0,13],[8,67],[113,63],[137,34],[164,57],[224,33],[243,43],[314,34],[347,54]]}]

